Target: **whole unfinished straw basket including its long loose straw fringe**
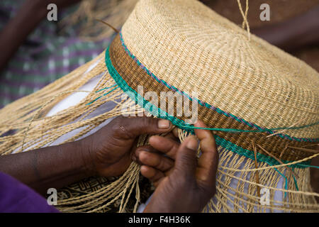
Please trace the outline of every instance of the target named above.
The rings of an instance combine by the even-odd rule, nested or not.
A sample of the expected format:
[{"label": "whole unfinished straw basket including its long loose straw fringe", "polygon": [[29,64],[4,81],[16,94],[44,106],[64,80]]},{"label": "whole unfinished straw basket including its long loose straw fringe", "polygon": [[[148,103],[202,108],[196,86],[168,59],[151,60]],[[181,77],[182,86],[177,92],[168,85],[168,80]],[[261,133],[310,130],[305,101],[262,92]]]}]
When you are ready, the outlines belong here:
[{"label": "whole unfinished straw basket including its long loose straw fringe", "polygon": [[[82,89],[96,78],[92,91]],[[217,192],[204,211],[318,211],[309,170],[318,156],[318,72],[194,0],[139,1],[105,52],[2,109],[1,133],[14,131],[0,138],[2,155],[83,138],[123,114],[123,106],[159,111],[179,127],[180,140],[194,133],[186,116],[167,113],[139,86],[158,96],[180,94],[216,129]],[[76,92],[86,96],[50,115]],[[124,92],[130,98],[121,99]],[[96,212],[117,204],[119,211],[136,211],[146,188],[141,182],[133,162],[111,182],[91,177],[62,189],[58,208]],[[260,192],[269,192],[266,204]]]}]

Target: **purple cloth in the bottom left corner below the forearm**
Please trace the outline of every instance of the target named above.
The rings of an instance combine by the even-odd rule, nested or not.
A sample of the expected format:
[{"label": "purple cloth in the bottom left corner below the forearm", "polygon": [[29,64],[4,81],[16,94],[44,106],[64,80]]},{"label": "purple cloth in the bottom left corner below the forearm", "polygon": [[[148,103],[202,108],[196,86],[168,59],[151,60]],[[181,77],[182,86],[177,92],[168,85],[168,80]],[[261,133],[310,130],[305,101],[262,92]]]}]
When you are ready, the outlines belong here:
[{"label": "purple cloth in the bottom left corner below the forearm", "polygon": [[57,213],[54,206],[25,184],[0,172],[0,213]]}]

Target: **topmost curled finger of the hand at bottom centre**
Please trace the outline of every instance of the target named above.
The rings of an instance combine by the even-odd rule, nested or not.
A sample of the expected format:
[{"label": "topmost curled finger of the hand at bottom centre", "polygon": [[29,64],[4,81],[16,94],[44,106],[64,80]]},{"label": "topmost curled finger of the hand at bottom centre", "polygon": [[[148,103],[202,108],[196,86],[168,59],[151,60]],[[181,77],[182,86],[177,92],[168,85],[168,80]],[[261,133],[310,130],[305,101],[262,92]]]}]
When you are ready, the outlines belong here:
[{"label": "topmost curled finger of the hand at bottom centre", "polygon": [[151,136],[148,141],[153,148],[175,160],[180,145],[177,141],[158,135]]}]

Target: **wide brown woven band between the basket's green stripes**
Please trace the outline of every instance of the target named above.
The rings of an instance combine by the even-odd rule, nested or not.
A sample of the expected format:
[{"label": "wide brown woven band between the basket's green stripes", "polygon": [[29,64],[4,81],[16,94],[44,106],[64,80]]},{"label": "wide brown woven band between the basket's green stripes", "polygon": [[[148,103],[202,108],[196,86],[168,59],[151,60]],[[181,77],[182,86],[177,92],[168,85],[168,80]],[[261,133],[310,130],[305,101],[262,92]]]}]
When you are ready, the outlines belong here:
[{"label": "wide brown woven band between the basket's green stripes", "polygon": [[[109,48],[109,55],[111,57],[111,62],[113,67],[116,69],[118,74],[125,80],[125,82],[136,92],[138,91],[138,86],[143,86],[143,91],[146,92],[156,92],[160,96],[160,92],[172,92],[168,87],[163,84],[158,83],[155,79],[152,79],[145,70],[140,67],[133,60],[121,43],[120,35],[117,35],[114,38],[113,42]],[[167,101],[168,102],[168,101]],[[177,102],[174,100],[174,109],[176,109]],[[191,101],[189,106],[191,106]],[[159,106],[158,106],[159,107]],[[184,116],[176,116],[181,120],[185,120]],[[255,130],[250,126],[247,126],[245,123],[236,121],[233,118],[219,114],[213,109],[208,109],[205,106],[198,105],[198,118],[201,119],[206,125],[210,128],[237,128],[242,130]],[[289,140],[286,138],[281,138],[277,135],[267,137],[269,133],[229,133],[229,132],[220,132],[215,131],[216,135],[220,138],[230,141],[241,148],[247,150],[253,150],[252,142],[257,145],[262,146],[269,153],[274,155],[281,160],[286,161],[295,161],[301,160],[305,157],[313,155],[308,151],[292,149],[289,147],[301,148],[305,145],[312,145],[315,143],[306,142],[306,141],[296,141]],[[282,151],[284,150],[284,153]],[[267,155],[263,150],[259,149],[259,153]],[[269,155],[267,155],[269,156]]]}]

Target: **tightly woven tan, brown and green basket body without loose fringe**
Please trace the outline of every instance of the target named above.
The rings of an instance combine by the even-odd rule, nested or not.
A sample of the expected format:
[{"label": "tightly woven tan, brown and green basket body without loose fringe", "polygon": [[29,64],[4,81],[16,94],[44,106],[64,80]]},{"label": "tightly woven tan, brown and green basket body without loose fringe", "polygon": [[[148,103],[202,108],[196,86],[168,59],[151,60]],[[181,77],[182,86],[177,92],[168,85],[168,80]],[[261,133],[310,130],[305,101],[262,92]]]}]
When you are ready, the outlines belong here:
[{"label": "tightly woven tan, brown and green basket body without loose fringe", "polygon": [[[286,161],[313,155],[293,148],[319,141],[319,115],[315,113],[318,87],[309,82],[318,73],[259,38],[247,40],[245,31],[198,1],[183,3],[138,3],[106,51],[106,64],[113,79],[123,90],[136,94],[138,86],[143,86],[144,92],[157,92],[158,96],[160,92],[179,92],[197,102],[198,118],[211,128],[253,131],[294,122],[313,123],[271,137],[271,130],[216,132],[225,147],[249,157],[253,157],[253,143]],[[300,78],[296,77],[296,65]],[[198,99],[191,98],[191,89],[198,91]],[[286,101],[281,100],[284,97]],[[168,118],[179,126],[185,121],[183,117]],[[269,158],[267,153],[261,153],[265,156],[259,160]]]}]

